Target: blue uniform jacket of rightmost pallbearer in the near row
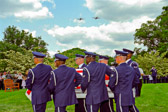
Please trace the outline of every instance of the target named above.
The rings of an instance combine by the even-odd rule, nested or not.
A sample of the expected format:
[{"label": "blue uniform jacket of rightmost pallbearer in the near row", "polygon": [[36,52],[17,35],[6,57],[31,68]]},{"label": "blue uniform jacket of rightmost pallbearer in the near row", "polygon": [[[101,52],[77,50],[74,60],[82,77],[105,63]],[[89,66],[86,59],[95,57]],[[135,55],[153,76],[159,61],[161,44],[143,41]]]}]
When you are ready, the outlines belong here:
[{"label": "blue uniform jacket of rightmost pallbearer in the near row", "polygon": [[131,106],[135,104],[132,87],[135,86],[139,80],[134,75],[134,69],[126,63],[121,63],[116,67],[115,71],[116,73],[110,77],[109,87],[116,95],[116,103],[120,101],[121,106]]}]

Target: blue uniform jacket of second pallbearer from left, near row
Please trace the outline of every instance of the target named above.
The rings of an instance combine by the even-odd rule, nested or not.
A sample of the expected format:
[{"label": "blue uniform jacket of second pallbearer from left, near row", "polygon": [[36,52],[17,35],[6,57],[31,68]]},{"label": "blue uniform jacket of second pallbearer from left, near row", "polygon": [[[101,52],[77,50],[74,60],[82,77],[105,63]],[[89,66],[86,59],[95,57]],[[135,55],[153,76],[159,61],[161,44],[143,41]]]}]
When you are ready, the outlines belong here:
[{"label": "blue uniform jacket of second pallbearer from left, near row", "polygon": [[[74,68],[61,65],[51,72],[49,90],[53,93],[55,107],[64,107],[78,103],[75,94],[75,86],[77,87],[82,76],[76,72]],[[74,80],[76,80],[74,82]]]}]

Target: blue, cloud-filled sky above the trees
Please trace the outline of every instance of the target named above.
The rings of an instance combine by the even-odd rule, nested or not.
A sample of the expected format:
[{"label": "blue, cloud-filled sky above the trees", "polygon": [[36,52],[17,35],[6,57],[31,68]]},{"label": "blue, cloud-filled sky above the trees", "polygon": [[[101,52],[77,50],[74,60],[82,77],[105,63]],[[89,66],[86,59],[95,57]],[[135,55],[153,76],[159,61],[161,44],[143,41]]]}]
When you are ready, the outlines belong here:
[{"label": "blue, cloud-filled sky above the trees", "polygon": [[145,48],[134,44],[135,30],[167,5],[167,0],[0,0],[0,40],[14,25],[41,36],[51,56],[75,47],[114,56],[116,49]]}]

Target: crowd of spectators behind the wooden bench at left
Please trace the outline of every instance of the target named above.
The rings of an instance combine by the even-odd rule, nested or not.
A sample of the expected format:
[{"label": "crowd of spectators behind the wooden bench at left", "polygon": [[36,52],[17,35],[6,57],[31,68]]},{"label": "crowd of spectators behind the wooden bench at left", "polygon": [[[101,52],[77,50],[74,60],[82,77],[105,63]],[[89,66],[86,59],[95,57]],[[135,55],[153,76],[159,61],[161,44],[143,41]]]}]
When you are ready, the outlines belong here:
[{"label": "crowd of spectators behind the wooden bench at left", "polygon": [[4,90],[4,80],[11,79],[14,83],[19,83],[20,89],[24,89],[26,87],[26,75],[22,75],[21,72],[14,72],[11,74],[10,72],[0,72],[0,90]]}]

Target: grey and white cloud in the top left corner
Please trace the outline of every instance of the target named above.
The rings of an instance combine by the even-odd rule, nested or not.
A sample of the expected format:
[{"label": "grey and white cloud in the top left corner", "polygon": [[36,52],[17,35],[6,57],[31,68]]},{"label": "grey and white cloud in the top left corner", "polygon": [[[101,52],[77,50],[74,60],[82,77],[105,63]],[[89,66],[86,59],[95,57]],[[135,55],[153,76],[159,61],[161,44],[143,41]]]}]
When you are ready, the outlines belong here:
[{"label": "grey and white cloud in the top left corner", "polygon": [[2,0],[0,17],[15,16],[22,19],[53,17],[53,14],[41,2],[41,0]]}]

